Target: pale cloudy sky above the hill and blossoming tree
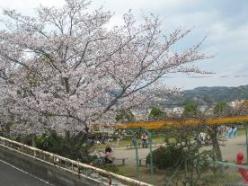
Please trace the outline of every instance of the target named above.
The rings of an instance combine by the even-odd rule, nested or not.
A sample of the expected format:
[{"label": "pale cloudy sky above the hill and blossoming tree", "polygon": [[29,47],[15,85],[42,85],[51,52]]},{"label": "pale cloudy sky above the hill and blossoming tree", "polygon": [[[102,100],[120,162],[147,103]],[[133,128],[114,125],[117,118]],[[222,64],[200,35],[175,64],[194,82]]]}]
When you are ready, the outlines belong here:
[{"label": "pale cloudy sky above the hill and blossoming tree", "polygon": [[[62,6],[63,0],[0,0],[0,8],[32,14],[42,5]],[[153,13],[160,17],[163,30],[193,28],[177,47],[190,46],[207,36],[202,50],[215,55],[198,66],[213,75],[173,74],[165,78],[169,86],[191,89],[198,86],[238,86],[248,84],[248,0],[93,0],[114,13],[111,25],[121,22],[123,13]]]}]

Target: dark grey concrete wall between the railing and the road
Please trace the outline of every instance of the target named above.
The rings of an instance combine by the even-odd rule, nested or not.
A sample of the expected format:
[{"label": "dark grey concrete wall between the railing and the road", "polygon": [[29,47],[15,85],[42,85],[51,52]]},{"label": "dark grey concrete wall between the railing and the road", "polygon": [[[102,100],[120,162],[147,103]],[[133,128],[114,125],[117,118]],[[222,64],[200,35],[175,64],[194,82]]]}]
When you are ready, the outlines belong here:
[{"label": "dark grey concrete wall between the railing and the road", "polygon": [[0,146],[0,159],[57,186],[102,185],[86,176],[81,175],[79,177],[74,173],[58,168],[52,164],[2,146]]}]

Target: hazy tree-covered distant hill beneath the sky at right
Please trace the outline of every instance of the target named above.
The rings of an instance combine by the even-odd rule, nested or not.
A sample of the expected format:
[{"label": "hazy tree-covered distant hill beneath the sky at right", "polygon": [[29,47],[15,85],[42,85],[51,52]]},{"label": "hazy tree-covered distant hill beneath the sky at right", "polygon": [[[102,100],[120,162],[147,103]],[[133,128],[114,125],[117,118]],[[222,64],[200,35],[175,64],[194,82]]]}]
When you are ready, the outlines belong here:
[{"label": "hazy tree-covered distant hill beneath the sky at right", "polygon": [[239,87],[197,87],[183,91],[181,96],[171,96],[160,104],[166,107],[182,106],[187,100],[195,100],[200,105],[212,105],[219,101],[230,102],[237,99],[248,99],[248,85]]}]

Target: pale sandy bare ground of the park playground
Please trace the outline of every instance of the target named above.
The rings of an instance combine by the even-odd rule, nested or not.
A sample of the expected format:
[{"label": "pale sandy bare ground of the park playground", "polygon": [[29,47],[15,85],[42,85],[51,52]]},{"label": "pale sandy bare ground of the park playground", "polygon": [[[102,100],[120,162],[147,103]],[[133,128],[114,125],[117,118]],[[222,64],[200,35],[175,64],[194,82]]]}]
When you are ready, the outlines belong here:
[{"label": "pale sandy bare ground of the park playground", "polygon": [[[243,151],[246,157],[245,136],[237,136],[232,139],[227,139],[224,141],[224,144],[221,145],[221,151],[223,159],[228,161],[235,160],[236,154],[239,151]],[[146,158],[148,153],[149,149],[138,150],[140,159]],[[135,165],[135,149],[114,149],[114,156],[116,158],[128,158],[126,163],[129,165]]]}]

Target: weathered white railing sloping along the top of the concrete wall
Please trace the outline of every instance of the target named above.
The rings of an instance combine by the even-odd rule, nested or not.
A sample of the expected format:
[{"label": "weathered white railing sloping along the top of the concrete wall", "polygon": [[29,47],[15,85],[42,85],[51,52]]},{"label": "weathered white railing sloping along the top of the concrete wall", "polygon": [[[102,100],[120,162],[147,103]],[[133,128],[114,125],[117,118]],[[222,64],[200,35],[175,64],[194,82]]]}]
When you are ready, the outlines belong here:
[{"label": "weathered white railing sloping along the top of the concrete wall", "polygon": [[152,186],[151,184],[141,182],[132,178],[128,178],[113,172],[109,172],[79,161],[74,161],[57,154],[40,150],[4,137],[0,136],[0,146],[15,150],[18,153],[31,156],[42,162],[49,163],[53,166],[61,168],[65,171],[80,176],[87,176],[90,179],[98,180],[103,185],[137,185],[137,186]]}]

